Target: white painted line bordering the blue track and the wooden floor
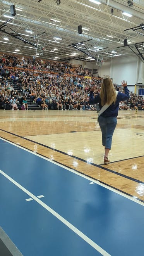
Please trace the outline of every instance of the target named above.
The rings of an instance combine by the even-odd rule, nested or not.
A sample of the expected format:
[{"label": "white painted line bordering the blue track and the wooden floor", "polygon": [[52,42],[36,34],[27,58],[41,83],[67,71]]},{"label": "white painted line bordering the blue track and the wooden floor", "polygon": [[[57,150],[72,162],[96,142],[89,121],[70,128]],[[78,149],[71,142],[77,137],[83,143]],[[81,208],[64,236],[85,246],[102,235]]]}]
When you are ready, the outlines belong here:
[{"label": "white painted line bordering the blue track and the wooden floor", "polygon": [[5,140],[5,139],[3,139],[3,138],[1,138],[1,137],[0,137],[0,139],[3,140],[3,141],[5,141],[5,142],[8,142],[9,144],[14,145],[15,147],[19,147],[20,149],[25,150],[25,151],[27,151],[27,152],[29,152],[29,153],[31,153],[31,154],[37,156],[37,157],[41,157],[41,158],[45,159],[46,161],[48,161],[48,162],[50,162],[50,163],[53,163],[53,164],[55,164],[55,165],[58,165],[58,166],[62,167],[62,168],[65,169],[65,170],[68,170],[68,171],[70,171],[70,172],[72,172],[72,173],[74,173],[74,174],[76,174],[76,175],[78,175],[78,176],[81,176],[82,178],[84,178],[84,179],[86,179],[86,180],[89,180],[89,181],[91,181],[91,182],[94,182],[94,183],[98,184],[98,185],[101,186],[101,187],[104,187],[104,188],[106,188],[106,189],[108,189],[108,190],[111,190],[112,192],[114,192],[114,193],[116,193],[116,194],[118,194],[118,195],[121,195],[121,196],[123,196],[123,197],[125,197],[125,198],[127,198],[127,199],[129,199],[129,200],[131,200],[131,201],[133,201],[133,202],[135,202],[135,203],[137,203],[137,204],[141,204],[142,206],[144,206],[144,203],[143,203],[143,202],[141,202],[141,201],[135,199],[134,197],[131,197],[131,196],[126,195],[126,194],[123,194],[122,192],[120,192],[120,191],[118,191],[118,190],[116,190],[116,189],[113,189],[113,188],[109,187],[108,185],[105,185],[105,184],[99,182],[99,180],[94,180],[93,178],[87,177],[87,176],[85,176],[85,175],[82,174],[82,173],[78,173],[77,171],[75,171],[75,170],[73,170],[73,169],[70,169],[69,167],[66,167],[66,166],[63,166],[62,164],[56,163],[55,161],[53,161],[53,160],[51,160],[51,159],[48,159],[48,158],[46,158],[45,156],[40,156],[39,154],[36,154],[36,153],[32,152],[31,150],[25,149],[25,148],[23,148],[22,146],[16,145],[16,144],[13,143],[13,142],[9,142],[9,140]]}]

